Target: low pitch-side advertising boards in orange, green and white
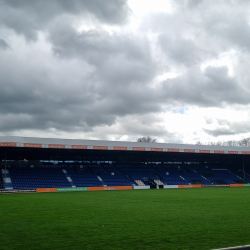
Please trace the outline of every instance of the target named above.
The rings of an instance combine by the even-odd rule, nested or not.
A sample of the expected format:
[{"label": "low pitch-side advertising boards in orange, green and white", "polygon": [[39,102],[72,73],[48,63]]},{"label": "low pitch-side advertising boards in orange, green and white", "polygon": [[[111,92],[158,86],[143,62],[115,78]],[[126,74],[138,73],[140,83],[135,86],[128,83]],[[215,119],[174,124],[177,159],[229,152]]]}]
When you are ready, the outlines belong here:
[{"label": "low pitch-side advertising boards in orange, green and white", "polygon": [[162,185],[162,186],[106,186],[106,187],[74,187],[74,188],[29,188],[29,189],[0,189],[0,194],[14,193],[49,193],[75,191],[113,191],[113,190],[145,190],[171,188],[218,188],[218,187],[250,187],[250,184],[203,184],[203,185]]}]

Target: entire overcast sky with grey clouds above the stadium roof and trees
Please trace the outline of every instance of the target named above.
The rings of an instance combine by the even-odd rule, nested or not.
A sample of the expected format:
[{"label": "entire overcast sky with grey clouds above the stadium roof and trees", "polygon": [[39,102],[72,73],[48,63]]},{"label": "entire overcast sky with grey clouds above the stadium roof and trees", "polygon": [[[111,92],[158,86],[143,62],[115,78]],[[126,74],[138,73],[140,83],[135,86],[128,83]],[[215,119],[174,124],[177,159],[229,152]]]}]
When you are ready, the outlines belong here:
[{"label": "entire overcast sky with grey clouds above the stadium roof and trees", "polygon": [[250,1],[0,0],[0,135],[250,137]]}]

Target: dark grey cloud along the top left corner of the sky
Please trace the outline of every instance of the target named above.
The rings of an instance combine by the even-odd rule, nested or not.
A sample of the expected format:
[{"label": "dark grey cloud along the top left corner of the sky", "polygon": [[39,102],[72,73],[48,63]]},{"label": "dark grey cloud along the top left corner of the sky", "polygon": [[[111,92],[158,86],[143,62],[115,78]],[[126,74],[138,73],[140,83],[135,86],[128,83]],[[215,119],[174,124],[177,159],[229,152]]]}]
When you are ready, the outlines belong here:
[{"label": "dark grey cloud along the top left corner of the sky", "polygon": [[56,18],[95,18],[107,24],[123,24],[130,12],[125,0],[0,0],[0,24],[36,40]]}]

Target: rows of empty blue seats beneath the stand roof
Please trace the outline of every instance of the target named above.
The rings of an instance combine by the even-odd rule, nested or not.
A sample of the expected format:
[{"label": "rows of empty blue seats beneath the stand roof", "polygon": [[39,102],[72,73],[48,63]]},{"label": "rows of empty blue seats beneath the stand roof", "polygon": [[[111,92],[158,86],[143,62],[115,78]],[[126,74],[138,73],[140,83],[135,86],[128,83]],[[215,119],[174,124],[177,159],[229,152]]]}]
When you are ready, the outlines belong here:
[{"label": "rows of empty blue seats beneath the stand roof", "polygon": [[[150,185],[151,182],[161,185],[178,185],[178,184],[211,184],[211,183],[244,183],[246,177],[250,180],[250,175],[242,171],[236,175],[233,171],[227,169],[215,170],[204,166],[196,167],[166,167],[155,166],[154,168],[141,166],[112,166],[108,165],[93,166],[93,169],[100,171],[100,174],[93,173],[95,170],[88,166],[62,166],[49,168],[45,167],[10,167],[9,173],[14,188],[21,186],[36,187],[70,187],[71,184],[67,179],[66,173],[71,177],[73,184],[79,187],[84,186],[127,186],[127,185]],[[244,175],[245,180],[242,179]],[[98,177],[99,176],[99,177]],[[0,188],[3,181],[0,177]],[[138,184],[140,183],[140,184]]]}]

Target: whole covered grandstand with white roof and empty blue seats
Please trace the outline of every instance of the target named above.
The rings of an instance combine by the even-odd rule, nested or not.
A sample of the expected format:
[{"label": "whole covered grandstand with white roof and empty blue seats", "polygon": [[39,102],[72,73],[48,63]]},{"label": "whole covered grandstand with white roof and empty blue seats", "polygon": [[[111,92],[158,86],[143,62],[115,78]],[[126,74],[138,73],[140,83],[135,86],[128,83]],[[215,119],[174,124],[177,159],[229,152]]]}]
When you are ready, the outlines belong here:
[{"label": "whole covered grandstand with white roof and empty blue seats", "polygon": [[0,137],[0,189],[250,182],[250,148]]}]

